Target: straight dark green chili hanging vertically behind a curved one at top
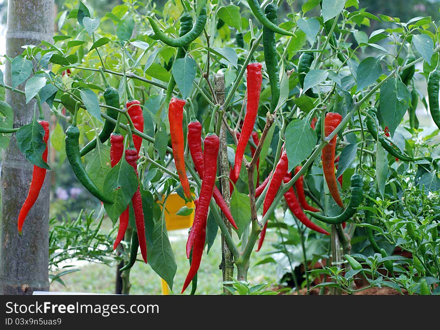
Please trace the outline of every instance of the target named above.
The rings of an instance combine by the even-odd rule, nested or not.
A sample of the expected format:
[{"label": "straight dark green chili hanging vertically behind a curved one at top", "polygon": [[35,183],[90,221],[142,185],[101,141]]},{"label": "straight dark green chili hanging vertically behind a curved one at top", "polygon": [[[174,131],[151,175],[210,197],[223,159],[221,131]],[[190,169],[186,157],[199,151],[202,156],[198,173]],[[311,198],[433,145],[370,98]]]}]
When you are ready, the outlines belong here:
[{"label": "straight dark green chili hanging vertically behind a curved one at top", "polygon": [[[264,14],[271,23],[276,24],[278,6],[273,3],[268,4],[264,8]],[[279,68],[276,56],[275,33],[266,27],[263,27],[263,51],[270,84],[270,110],[273,112],[279,100]]]}]

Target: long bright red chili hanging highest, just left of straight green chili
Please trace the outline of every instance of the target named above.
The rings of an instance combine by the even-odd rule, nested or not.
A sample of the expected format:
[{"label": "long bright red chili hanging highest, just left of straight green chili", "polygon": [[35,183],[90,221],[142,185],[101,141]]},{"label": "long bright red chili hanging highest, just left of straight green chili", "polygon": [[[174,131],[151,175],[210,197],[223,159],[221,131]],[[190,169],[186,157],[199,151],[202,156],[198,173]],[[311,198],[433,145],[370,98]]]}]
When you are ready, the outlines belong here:
[{"label": "long bright red chili hanging highest, just left of straight green chili", "polygon": [[247,104],[243,126],[241,127],[240,139],[238,140],[237,149],[235,151],[234,172],[236,178],[240,175],[244,149],[246,148],[247,141],[249,141],[253,125],[255,124],[256,115],[258,114],[258,103],[262,82],[261,63],[250,63],[247,65],[246,69]]}]

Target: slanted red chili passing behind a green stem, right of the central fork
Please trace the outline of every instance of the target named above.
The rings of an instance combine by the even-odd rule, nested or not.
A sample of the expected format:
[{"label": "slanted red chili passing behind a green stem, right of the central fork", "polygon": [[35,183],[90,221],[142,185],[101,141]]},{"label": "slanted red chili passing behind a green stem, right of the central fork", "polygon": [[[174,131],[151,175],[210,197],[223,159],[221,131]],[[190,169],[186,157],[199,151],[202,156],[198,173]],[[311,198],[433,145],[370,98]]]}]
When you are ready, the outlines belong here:
[{"label": "slanted red chili passing behind a green stem, right of the central fork", "polygon": [[[279,158],[279,161],[275,166],[275,171],[273,172],[272,179],[270,180],[269,188],[267,188],[266,195],[264,196],[263,216],[264,214],[266,214],[267,210],[272,204],[273,199],[275,198],[276,193],[279,189],[279,186],[281,185],[282,179],[284,178],[284,175],[287,172],[287,169],[288,169],[287,154],[285,150],[283,150],[281,157]],[[267,222],[264,224],[264,227],[260,232],[258,247],[256,248],[256,251],[259,251],[261,245],[263,244],[264,236],[266,235],[266,229],[267,229]]]}]

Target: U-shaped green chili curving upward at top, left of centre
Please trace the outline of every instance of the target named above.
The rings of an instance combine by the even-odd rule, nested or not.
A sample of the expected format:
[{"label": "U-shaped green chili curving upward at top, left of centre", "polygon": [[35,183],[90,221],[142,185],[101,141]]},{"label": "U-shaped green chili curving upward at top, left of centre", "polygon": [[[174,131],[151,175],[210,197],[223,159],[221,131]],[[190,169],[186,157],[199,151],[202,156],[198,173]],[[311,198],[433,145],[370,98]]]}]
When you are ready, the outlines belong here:
[{"label": "U-shaped green chili curving upward at top, left of centre", "polygon": [[[186,13],[186,12],[185,12]],[[189,14],[188,14],[189,15]],[[200,34],[203,32],[204,26],[206,24],[206,8],[202,8],[200,11],[200,14],[195,19],[195,24],[189,31],[186,31],[184,34],[182,34],[182,27],[180,26],[180,32],[178,38],[170,38],[166,36],[159,28],[157,23],[151,18],[147,17],[147,20],[149,21],[151,28],[154,31],[154,35],[164,44],[172,47],[183,47],[188,45],[189,43],[192,43]],[[191,19],[192,22],[192,19]],[[180,20],[181,24],[181,20]]]}]

